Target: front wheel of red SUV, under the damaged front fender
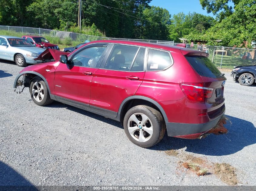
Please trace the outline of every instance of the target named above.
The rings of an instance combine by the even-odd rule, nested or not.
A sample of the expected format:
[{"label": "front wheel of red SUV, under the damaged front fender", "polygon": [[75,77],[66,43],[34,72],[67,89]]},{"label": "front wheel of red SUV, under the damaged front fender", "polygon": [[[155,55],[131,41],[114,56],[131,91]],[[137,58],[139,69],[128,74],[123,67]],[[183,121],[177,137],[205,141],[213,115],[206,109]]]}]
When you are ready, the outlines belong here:
[{"label": "front wheel of red SUV, under the damaged front fender", "polygon": [[53,102],[45,81],[34,78],[30,84],[30,95],[35,104],[45,106]]}]

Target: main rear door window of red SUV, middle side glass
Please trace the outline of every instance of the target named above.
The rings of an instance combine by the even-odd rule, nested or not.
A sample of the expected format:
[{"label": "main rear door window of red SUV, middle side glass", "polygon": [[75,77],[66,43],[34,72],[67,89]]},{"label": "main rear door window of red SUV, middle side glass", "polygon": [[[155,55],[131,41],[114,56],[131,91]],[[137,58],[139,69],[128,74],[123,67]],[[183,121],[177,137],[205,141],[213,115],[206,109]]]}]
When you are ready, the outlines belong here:
[{"label": "main rear door window of red SUV, middle side glass", "polygon": [[105,65],[106,69],[130,71],[131,64],[139,47],[127,45],[114,45]]}]

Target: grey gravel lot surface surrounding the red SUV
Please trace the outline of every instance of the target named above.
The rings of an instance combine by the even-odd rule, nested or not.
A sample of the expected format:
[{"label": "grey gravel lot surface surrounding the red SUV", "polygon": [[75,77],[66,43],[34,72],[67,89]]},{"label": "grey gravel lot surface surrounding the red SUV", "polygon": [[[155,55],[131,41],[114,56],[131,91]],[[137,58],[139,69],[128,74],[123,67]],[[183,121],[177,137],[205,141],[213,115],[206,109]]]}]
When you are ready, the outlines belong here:
[{"label": "grey gravel lot surface surrounding the red SUV", "polygon": [[178,167],[165,151],[236,168],[239,185],[256,185],[256,85],[225,84],[227,135],[164,139],[150,149],[132,144],[120,123],[54,102],[39,107],[28,88],[13,91],[22,69],[0,60],[0,185],[226,185],[213,173]]}]

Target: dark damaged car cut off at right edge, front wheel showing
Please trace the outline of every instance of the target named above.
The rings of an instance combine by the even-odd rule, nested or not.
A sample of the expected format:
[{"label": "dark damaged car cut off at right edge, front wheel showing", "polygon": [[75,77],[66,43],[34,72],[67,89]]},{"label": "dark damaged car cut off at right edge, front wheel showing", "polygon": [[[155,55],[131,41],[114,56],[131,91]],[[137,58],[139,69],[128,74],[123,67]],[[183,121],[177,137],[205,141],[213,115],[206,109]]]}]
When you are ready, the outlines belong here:
[{"label": "dark damaged car cut off at right edge, front wheel showing", "polygon": [[256,65],[238,65],[231,72],[234,81],[238,81],[243,86],[250,86],[256,79]]}]

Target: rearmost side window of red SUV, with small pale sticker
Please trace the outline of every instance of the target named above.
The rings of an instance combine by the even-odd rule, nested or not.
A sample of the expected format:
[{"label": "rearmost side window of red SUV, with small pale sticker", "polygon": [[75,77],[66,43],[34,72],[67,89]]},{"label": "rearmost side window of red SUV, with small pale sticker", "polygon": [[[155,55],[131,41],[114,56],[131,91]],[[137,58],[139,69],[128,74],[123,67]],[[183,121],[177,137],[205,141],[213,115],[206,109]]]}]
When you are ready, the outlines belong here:
[{"label": "rearmost side window of red SUV, with small pale sticker", "polygon": [[168,52],[149,49],[148,52],[148,71],[164,70],[171,65],[171,57]]}]

